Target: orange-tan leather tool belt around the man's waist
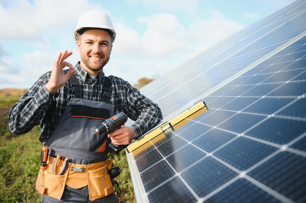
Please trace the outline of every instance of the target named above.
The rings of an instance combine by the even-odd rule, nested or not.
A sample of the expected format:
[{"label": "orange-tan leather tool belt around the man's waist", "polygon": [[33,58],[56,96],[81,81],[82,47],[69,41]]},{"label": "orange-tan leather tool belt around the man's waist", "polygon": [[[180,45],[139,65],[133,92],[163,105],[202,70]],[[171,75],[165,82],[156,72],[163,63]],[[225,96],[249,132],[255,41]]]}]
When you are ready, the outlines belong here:
[{"label": "orange-tan leather tool belt around the man's waist", "polygon": [[60,200],[65,185],[78,189],[88,185],[89,200],[103,198],[114,192],[108,170],[111,160],[93,164],[73,164],[67,160],[48,157],[46,168],[40,169],[36,189],[42,195]]}]

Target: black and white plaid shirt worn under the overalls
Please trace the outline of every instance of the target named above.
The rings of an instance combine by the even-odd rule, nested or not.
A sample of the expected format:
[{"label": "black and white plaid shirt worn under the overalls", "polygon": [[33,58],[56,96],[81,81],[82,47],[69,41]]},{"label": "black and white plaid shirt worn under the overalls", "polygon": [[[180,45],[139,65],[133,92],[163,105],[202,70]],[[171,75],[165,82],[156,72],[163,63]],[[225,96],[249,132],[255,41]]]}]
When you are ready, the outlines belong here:
[{"label": "black and white plaid shirt worn under the overalls", "polygon": [[[83,98],[102,101],[104,73],[101,72],[92,79],[79,63],[74,68]],[[9,111],[9,128],[14,134],[26,133],[34,126],[40,125],[42,131],[39,140],[47,142],[50,138],[70,98],[73,97],[69,81],[58,91],[48,92],[44,85],[49,81],[50,75],[51,72],[43,74]],[[140,94],[127,81],[113,75],[110,75],[109,79],[112,83],[110,103],[114,112],[125,112],[135,121],[131,127],[137,137],[152,129],[162,119],[157,104]]]}]

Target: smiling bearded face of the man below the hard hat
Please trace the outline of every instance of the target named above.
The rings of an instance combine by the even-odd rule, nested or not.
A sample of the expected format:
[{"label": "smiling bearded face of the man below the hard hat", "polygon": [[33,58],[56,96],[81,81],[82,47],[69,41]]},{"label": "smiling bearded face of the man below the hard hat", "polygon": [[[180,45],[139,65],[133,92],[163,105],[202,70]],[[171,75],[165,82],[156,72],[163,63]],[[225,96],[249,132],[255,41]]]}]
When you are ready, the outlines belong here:
[{"label": "smiling bearded face of the man below the hard hat", "polygon": [[111,38],[103,30],[87,30],[77,40],[80,65],[91,75],[97,75],[109,62]]}]

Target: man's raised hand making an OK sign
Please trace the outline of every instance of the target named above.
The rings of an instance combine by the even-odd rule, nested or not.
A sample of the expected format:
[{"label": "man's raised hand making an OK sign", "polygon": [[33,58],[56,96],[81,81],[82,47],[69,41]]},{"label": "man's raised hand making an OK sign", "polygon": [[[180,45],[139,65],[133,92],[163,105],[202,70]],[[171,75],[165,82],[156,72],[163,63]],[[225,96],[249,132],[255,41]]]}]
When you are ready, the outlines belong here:
[{"label": "man's raised hand making an OK sign", "polygon": [[[72,55],[72,52],[68,52],[65,50],[63,53],[60,53],[53,65],[51,76],[49,81],[45,84],[45,88],[49,92],[56,92],[60,87],[66,84],[66,82],[69,80],[69,78],[73,75],[74,73],[74,68],[71,65],[71,63],[68,63],[65,61],[67,57]],[[65,67],[69,67],[70,70],[68,71],[67,74],[63,73],[63,69]]]}]

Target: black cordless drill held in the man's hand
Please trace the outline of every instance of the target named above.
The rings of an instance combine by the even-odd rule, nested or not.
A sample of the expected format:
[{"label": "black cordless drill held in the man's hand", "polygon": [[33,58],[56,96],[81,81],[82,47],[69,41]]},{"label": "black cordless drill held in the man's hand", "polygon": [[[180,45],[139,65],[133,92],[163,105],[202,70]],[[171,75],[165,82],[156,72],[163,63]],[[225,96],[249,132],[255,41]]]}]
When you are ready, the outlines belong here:
[{"label": "black cordless drill held in the man's hand", "polygon": [[[128,120],[127,114],[125,114],[124,112],[117,113],[116,115],[106,119],[96,129],[94,129],[92,135],[94,134],[99,135],[105,132],[111,133],[117,129],[120,129],[121,126],[124,125],[125,122],[127,122],[127,120]],[[110,143],[109,147],[115,153],[119,153],[122,149],[126,148],[127,145],[114,145]]]}]

